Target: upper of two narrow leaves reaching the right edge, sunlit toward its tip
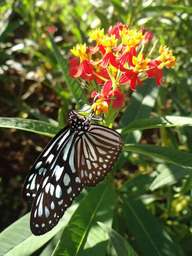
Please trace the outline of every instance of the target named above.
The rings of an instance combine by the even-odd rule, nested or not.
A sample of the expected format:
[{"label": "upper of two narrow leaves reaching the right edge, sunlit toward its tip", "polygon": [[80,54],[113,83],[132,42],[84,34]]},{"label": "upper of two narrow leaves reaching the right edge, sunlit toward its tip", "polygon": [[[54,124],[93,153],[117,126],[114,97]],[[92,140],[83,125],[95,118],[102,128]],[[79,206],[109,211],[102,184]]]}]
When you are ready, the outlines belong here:
[{"label": "upper of two narrow leaves reaching the right edge, sunlit toward its tip", "polygon": [[131,122],[127,127],[117,131],[123,135],[131,131],[172,126],[192,126],[192,118],[184,116],[159,116],[139,119]]}]

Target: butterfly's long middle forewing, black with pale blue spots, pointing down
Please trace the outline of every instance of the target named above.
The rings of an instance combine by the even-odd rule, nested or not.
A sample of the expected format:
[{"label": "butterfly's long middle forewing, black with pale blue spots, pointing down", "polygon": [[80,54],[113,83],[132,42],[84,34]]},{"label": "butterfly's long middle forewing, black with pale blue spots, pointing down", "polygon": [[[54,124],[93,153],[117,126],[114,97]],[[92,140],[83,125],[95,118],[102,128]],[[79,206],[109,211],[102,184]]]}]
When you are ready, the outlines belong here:
[{"label": "butterfly's long middle forewing, black with pale blue spots, pointing down", "polygon": [[47,233],[58,224],[84,187],[76,168],[75,139],[76,132],[72,132],[60,144],[41,181],[30,219],[31,231],[36,236]]}]

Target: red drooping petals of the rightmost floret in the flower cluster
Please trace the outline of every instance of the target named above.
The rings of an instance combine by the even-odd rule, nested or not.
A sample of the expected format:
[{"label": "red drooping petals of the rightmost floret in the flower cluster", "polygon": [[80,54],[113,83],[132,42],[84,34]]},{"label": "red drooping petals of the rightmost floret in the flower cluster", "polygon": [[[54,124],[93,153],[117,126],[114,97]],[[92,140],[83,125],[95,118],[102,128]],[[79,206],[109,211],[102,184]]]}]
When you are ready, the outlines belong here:
[{"label": "red drooping petals of the rightmost floret in the flower cluster", "polygon": [[148,62],[148,66],[151,67],[150,70],[147,71],[146,76],[148,76],[148,78],[154,78],[156,77],[156,83],[160,86],[163,87],[161,85],[161,81],[164,82],[165,80],[162,79],[162,67],[160,67],[160,61],[158,60],[152,60]]}]

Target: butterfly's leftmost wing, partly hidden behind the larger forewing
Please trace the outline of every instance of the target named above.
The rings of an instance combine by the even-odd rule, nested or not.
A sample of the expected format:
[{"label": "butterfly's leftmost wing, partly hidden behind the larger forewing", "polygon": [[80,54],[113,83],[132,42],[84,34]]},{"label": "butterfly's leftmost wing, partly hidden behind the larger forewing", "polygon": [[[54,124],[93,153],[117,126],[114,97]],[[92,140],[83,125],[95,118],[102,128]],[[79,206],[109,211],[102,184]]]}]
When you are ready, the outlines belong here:
[{"label": "butterfly's leftmost wing, partly hidden behind the larger forewing", "polygon": [[67,125],[52,138],[47,147],[35,161],[23,185],[23,198],[27,202],[34,200],[49,164],[52,162],[59,146],[67,139],[69,134],[70,128],[69,125]]}]

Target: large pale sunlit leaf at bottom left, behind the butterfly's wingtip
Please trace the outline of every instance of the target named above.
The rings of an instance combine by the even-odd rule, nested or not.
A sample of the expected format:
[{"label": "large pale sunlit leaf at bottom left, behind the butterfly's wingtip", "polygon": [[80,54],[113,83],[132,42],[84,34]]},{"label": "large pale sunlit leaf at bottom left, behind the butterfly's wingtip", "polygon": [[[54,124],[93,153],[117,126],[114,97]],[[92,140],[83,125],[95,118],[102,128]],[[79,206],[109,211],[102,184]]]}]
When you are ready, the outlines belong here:
[{"label": "large pale sunlit leaf at bottom left, behind the butterfly's wingtip", "polygon": [[43,236],[34,236],[29,227],[30,213],[26,214],[0,233],[0,256],[28,256],[47,243],[63,228],[79,206],[79,200],[86,195],[82,192],[73,205],[67,209],[55,228]]}]

